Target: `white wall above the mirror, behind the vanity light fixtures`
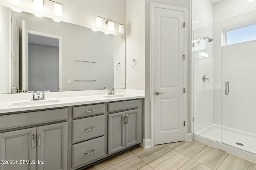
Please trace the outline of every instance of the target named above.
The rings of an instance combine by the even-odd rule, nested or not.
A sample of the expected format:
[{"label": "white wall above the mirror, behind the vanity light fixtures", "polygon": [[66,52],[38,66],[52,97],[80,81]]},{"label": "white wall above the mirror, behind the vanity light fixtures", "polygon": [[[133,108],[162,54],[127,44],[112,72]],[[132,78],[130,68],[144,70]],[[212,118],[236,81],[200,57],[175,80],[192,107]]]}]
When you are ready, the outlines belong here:
[{"label": "white wall above the mirror, behind the vanity light fixtures", "polygon": [[[38,12],[33,8],[32,0],[20,0],[20,4],[12,4],[8,0],[1,0],[0,5],[17,8],[25,12],[40,14],[48,18],[56,18],[68,23],[82,25],[89,28],[96,28],[96,16],[108,18],[110,20],[125,24],[126,0],[64,0],[59,1],[63,4],[63,16],[57,17],[53,14],[54,2],[44,1],[44,11]],[[108,28],[102,23],[99,30],[106,31],[115,35],[125,36],[119,33],[119,25],[115,25],[115,31],[108,31]]]}]

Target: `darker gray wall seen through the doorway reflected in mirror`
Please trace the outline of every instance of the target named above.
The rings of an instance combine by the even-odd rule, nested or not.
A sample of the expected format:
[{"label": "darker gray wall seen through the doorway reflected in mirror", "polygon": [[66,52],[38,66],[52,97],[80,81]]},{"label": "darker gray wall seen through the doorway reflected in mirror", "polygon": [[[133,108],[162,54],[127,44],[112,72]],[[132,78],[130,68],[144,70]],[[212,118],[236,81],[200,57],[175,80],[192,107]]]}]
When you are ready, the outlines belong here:
[{"label": "darker gray wall seen through the doorway reflected in mirror", "polygon": [[28,90],[58,91],[59,48],[28,43]]}]

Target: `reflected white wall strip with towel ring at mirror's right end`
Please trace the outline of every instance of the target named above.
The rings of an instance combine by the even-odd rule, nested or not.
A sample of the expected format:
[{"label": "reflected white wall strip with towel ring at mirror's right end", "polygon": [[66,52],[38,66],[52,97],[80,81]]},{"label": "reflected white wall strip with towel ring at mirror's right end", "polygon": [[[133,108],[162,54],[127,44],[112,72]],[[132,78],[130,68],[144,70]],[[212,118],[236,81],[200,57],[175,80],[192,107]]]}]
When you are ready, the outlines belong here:
[{"label": "reflected white wall strip with towel ring at mirror's right end", "polygon": [[[126,46],[125,38],[114,36],[114,88],[125,88]],[[117,63],[120,67],[117,70]],[[123,81],[124,80],[124,81]]]}]

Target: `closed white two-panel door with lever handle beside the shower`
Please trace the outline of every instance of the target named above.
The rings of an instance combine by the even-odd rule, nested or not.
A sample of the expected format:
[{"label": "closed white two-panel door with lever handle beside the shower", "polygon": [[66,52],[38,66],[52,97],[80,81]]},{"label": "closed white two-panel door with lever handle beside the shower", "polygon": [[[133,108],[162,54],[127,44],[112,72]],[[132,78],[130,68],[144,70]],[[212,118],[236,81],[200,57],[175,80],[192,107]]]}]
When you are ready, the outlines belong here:
[{"label": "closed white two-panel door with lever handle beside the shower", "polygon": [[183,23],[184,12],[154,10],[155,145],[184,141]]}]

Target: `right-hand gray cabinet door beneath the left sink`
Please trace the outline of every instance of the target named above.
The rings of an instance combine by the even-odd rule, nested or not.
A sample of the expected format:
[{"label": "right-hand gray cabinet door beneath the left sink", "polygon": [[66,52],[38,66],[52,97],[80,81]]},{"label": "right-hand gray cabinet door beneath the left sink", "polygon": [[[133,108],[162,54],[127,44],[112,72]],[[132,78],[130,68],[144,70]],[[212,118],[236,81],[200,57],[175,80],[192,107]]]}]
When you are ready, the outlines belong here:
[{"label": "right-hand gray cabinet door beneath the left sink", "polygon": [[38,170],[67,170],[68,122],[37,127]]}]

